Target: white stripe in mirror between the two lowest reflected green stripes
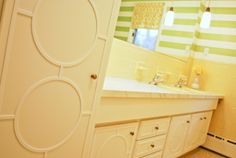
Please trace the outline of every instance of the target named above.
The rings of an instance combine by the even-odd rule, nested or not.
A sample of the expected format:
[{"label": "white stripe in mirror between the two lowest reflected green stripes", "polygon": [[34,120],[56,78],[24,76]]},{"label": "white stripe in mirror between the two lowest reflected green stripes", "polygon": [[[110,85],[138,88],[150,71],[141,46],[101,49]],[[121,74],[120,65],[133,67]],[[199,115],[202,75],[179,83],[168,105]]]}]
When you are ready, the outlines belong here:
[{"label": "white stripe in mirror between the two lowest reflected green stripes", "polygon": [[176,36],[160,35],[159,41],[176,42],[176,43],[181,43],[181,44],[192,44],[193,38],[183,38],[183,37],[176,37]]}]

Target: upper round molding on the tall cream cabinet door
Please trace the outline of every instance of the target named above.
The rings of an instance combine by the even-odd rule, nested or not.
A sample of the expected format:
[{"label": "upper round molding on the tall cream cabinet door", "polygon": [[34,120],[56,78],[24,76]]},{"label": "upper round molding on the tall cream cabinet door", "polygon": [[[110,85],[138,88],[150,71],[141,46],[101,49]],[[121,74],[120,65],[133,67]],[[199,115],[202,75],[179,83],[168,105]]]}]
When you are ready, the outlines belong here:
[{"label": "upper round molding on the tall cream cabinet door", "polygon": [[[53,3],[54,1],[55,3]],[[58,14],[61,14],[60,9],[58,8],[63,6],[63,4],[59,4],[63,3],[64,2],[63,0],[39,0],[33,12],[32,35],[35,45],[39,50],[40,54],[47,61],[57,66],[71,67],[81,63],[92,53],[95,47],[95,43],[98,39],[98,17],[97,17],[98,15],[95,6],[93,2],[90,0],[80,0],[80,1],[84,2],[83,6],[87,6],[87,8],[82,8],[82,9],[86,9],[86,12],[90,13],[89,18],[87,14],[78,13],[79,19],[83,21],[79,21],[79,19],[76,20],[70,17],[68,18],[66,15],[57,17]],[[55,13],[50,12],[50,15],[46,13],[44,15],[44,9],[49,8],[47,6],[50,4],[49,2],[54,4],[50,5],[50,10],[54,9]],[[44,3],[46,4],[49,3],[49,4],[46,5]],[[69,6],[73,6],[70,2],[67,2],[66,4],[70,4]],[[66,4],[63,7],[65,7]],[[68,7],[67,10],[69,10]],[[79,12],[79,10],[80,10],[79,8],[77,10],[74,8],[73,11]],[[88,10],[90,10],[90,12]],[[68,16],[69,15],[73,16],[73,13],[70,13],[70,11],[67,11],[66,13],[68,13]],[[75,18],[77,16],[73,17]],[[63,22],[69,21],[69,24],[63,25],[64,23],[61,23],[62,21]],[[78,26],[78,24],[82,26],[80,27],[80,25]],[[74,25],[78,27],[75,27]],[[60,29],[55,31],[56,28],[57,29],[61,28],[62,31]],[[91,29],[89,30],[88,28]],[[67,32],[70,32],[70,36],[69,35],[67,36]],[[91,33],[90,34],[91,37],[86,36],[89,33]],[[82,34],[81,37],[79,37],[80,34]],[[64,39],[65,36],[68,38]],[[76,39],[78,41],[82,41],[83,44],[80,44],[79,42],[76,43]],[[64,43],[67,43],[67,45]],[[70,53],[72,53],[73,55]],[[69,54],[69,56],[67,56],[67,54]]]}]

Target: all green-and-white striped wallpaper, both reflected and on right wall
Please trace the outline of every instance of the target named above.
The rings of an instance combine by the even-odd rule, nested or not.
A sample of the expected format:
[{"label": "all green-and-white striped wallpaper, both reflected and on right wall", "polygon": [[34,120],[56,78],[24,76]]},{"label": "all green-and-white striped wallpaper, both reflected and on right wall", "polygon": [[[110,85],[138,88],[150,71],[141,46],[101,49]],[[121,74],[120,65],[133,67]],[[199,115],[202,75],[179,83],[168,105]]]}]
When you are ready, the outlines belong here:
[{"label": "all green-and-white striped wallpaper, both reflected and on right wall", "polygon": [[[236,0],[211,1],[212,22],[209,29],[200,29],[200,16],[205,1],[122,0],[115,37],[128,40],[131,18],[136,3],[165,2],[164,15],[173,5],[175,21],[172,27],[161,25],[157,51],[173,55],[187,55],[192,48],[197,57],[225,58],[236,61]],[[163,18],[164,20],[164,18]],[[162,21],[163,21],[162,20]],[[205,49],[207,48],[207,49]],[[232,59],[234,58],[234,59]]]}]

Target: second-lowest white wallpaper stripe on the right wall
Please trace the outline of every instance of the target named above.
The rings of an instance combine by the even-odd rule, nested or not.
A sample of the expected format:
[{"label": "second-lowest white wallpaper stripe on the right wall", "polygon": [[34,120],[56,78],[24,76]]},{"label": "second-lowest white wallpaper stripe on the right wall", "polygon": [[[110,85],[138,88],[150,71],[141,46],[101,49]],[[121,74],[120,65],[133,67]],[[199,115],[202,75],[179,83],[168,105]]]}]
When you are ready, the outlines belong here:
[{"label": "second-lowest white wallpaper stripe on the right wall", "polygon": [[236,51],[236,44],[235,42],[224,42],[224,41],[213,41],[213,40],[203,40],[203,39],[196,39],[196,44],[206,47],[217,47],[217,48],[224,48],[224,49],[235,49]]}]

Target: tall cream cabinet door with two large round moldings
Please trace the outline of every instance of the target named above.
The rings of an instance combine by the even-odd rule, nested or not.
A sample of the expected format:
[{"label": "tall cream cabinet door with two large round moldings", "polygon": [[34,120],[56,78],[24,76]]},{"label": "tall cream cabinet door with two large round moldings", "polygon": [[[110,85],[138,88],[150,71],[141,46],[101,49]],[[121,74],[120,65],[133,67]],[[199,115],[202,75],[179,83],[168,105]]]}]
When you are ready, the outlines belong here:
[{"label": "tall cream cabinet door with two large round moldings", "polygon": [[0,157],[85,157],[118,11],[118,0],[15,0],[0,82]]}]

